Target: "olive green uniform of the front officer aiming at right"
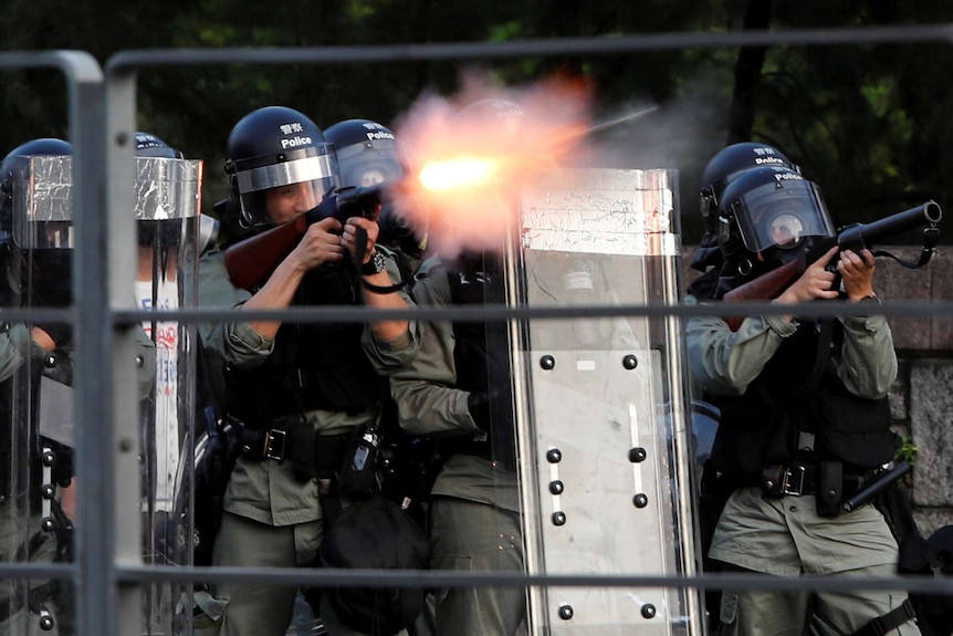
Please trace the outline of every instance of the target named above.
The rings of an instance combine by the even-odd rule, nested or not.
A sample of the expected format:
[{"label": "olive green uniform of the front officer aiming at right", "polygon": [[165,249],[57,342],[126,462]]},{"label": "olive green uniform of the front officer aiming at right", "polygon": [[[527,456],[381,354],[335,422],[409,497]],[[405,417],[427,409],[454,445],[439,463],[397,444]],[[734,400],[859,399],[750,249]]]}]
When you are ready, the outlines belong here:
[{"label": "olive green uniform of the front officer aiming at right", "polygon": [[[882,397],[897,375],[897,356],[883,316],[846,316],[837,375],[857,396]],[[713,395],[741,395],[797,325],[782,316],[748,317],[737,332],[718,317],[688,324],[692,379]],[[767,424],[767,423],[766,423]],[[736,490],[715,528],[709,556],[733,566],[775,574],[887,576],[896,572],[898,549],[877,509],[862,505],[836,518],[817,514],[814,496],[769,499],[758,488]],[[725,592],[720,609],[723,634],[802,635],[808,594]],[[852,633],[898,607],[905,593],[857,591],[817,594],[815,613]],[[892,634],[919,630],[908,623]]]}]

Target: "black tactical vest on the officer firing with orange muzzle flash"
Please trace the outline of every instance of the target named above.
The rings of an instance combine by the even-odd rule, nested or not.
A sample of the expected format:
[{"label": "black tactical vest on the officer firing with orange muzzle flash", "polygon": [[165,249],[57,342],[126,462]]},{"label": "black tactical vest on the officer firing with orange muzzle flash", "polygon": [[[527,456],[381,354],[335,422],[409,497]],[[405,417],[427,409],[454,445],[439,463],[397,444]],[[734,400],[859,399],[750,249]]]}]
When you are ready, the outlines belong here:
[{"label": "black tactical vest on the officer firing with orange muzzle flash", "polygon": [[[308,272],[292,306],[357,304],[343,268]],[[260,366],[226,369],[226,410],[253,428],[315,409],[359,413],[387,390],[360,344],[362,323],[284,323]]]}]

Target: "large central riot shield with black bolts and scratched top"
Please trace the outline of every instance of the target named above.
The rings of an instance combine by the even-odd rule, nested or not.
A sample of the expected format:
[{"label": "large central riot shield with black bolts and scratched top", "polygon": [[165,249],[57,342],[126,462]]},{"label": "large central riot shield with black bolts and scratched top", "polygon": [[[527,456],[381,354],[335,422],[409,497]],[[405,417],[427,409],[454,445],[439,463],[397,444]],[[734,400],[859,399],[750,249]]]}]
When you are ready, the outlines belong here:
[{"label": "large central riot shield with black bolts and scratched top", "polygon": [[[510,302],[674,304],[676,175],[557,174],[524,194]],[[677,317],[533,320],[512,329],[530,573],[699,570],[689,387]],[[692,590],[537,587],[531,634],[702,634]]]}]

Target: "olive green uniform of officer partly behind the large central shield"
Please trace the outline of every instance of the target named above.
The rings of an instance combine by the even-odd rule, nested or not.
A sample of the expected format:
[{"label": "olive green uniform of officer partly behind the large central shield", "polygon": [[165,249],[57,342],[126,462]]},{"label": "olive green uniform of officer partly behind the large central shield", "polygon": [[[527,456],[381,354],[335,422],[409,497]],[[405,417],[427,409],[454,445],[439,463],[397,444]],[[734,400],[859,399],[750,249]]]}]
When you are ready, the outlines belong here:
[{"label": "olive green uniform of officer partly behind the large central shield", "polygon": [[[425,262],[413,298],[420,305],[452,302],[446,268]],[[485,438],[467,405],[468,392],[455,388],[453,324],[427,323],[420,351],[390,377],[401,426],[413,435]],[[432,488],[431,567],[437,570],[523,570],[523,540],[516,476],[498,463],[457,452]],[[454,587],[439,592],[437,633],[443,635],[513,634],[525,617],[524,594],[513,587]]]}]

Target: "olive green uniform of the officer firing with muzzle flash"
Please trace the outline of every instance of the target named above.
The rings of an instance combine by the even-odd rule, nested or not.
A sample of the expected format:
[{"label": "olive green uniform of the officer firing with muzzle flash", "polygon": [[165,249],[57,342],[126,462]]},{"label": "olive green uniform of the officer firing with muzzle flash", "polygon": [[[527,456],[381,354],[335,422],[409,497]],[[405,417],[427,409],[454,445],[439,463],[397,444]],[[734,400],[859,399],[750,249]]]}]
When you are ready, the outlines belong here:
[{"label": "olive green uniform of the officer firing with muzzle flash", "polygon": [[[388,259],[388,273],[395,282],[399,272]],[[206,307],[238,309],[251,298],[229,282],[222,252],[211,250],[199,260],[199,302]],[[406,296],[405,296],[406,298]],[[409,299],[406,298],[408,304]],[[379,373],[389,373],[412,357],[418,337],[416,326],[395,342],[377,342],[369,329],[364,332],[366,354]],[[264,338],[248,323],[217,323],[200,330],[203,345],[235,367],[260,364],[273,351],[274,341]],[[347,414],[312,410],[292,419],[310,424],[317,436],[337,436],[377,418],[377,409]],[[275,421],[280,428],[282,421]],[[292,441],[293,444],[293,441]],[[320,444],[320,441],[318,441]],[[318,480],[296,476],[290,461],[254,461],[239,458],[224,497],[222,525],[216,538],[212,562],[220,566],[295,567],[314,562],[323,535]],[[214,596],[223,603],[221,632],[218,622],[201,634],[229,636],[283,636],[291,622],[296,590],[272,584],[226,583],[216,586]],[[322,619],[333,636],[357,634],[337,624],[326,603]],[[201,617],[197,627],[209,622]]]}]

